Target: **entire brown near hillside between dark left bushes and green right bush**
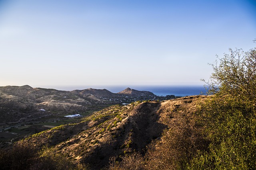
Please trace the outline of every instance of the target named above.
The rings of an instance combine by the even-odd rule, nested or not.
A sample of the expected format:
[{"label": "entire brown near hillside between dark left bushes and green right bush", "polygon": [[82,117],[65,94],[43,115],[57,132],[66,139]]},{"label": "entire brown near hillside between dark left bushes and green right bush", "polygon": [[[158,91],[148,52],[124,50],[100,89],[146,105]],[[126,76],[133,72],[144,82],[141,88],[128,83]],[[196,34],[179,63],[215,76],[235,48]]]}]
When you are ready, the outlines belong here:
[{"label": "entire brown near hillside between dark left bushes and green right bush", "polygon": [[206,96],[163,102],[110,106],[80,123],[62,125],[25,141],[39,150],[53,147],[90,169],[182,169],[204,147],[196,123],[198,103]]}]

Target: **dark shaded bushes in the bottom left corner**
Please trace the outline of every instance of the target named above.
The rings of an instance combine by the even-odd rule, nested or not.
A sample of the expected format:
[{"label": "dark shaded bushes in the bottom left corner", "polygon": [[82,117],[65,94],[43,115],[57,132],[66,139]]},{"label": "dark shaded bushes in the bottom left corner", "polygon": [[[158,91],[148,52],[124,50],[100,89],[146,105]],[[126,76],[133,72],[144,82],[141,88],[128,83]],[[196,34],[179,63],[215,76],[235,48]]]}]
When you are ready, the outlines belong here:
[{"label": "dark shaded bushes in the bottom left corner", "polygon": [[73,164],[64,155],[45,147],[42,150],[20,141],[12,147],[0,150],[1,170],[82,170],[84,166]]}]

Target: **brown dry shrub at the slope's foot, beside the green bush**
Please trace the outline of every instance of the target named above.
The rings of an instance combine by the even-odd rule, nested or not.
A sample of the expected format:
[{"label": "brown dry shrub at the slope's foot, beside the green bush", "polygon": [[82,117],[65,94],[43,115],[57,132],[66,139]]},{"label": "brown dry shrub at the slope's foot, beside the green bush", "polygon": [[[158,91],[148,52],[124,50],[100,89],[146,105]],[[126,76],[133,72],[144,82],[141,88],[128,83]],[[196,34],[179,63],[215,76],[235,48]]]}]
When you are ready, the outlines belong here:
[{"label": "brown dry shrub at the slope's foot, beside the green bush", "polygon": [[146,152],[148,170],[184,170],[197,150],[205,150],[208,146],[208,140],[202,136],[203,128],[186,118],[180,109],[176,111],[176,125],[165,130],[161,140],[149,145]]}]

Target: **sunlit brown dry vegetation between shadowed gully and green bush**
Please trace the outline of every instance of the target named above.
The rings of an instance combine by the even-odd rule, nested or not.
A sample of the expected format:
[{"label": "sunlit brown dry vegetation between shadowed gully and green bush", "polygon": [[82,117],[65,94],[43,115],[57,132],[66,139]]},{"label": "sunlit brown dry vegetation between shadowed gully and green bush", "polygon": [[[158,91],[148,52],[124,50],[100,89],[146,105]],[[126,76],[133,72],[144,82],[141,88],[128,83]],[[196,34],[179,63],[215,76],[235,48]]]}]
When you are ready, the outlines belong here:
[{"label": "sunlit brown dry vegetation between shadowed gully and green bush", "polygon": [[196,110],[209,96],[189,96],[161,103],[157,114],[166,128],[161,137],[147,145],[144,153],[135,152],[118,162],[112,158],[111,170],[173,170],[185,169],[197,153],[205,150],[208,141],[202,135],[204,127],[198,124]]}]

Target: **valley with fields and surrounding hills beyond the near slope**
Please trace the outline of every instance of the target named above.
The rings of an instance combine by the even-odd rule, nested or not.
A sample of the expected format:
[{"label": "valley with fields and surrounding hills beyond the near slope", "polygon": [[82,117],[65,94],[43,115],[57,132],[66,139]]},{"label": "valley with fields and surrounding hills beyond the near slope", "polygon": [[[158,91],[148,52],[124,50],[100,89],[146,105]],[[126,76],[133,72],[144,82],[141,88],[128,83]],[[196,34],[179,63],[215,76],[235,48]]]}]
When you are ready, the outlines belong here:
[{"label": "valley with fields and surrounding hills beyond the near slope", "polygon": [[[112,105],[136,101],[162,101],[176,96],[156,96],[130,88],[112,93],[106,89],[61,91],[31,86],[0,87],[0,146],[9,145],[34,133],[91,115]],[[64,117],[80,114],[80,117]]]}]

